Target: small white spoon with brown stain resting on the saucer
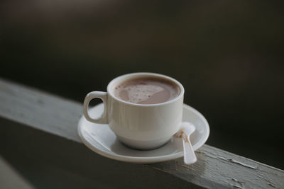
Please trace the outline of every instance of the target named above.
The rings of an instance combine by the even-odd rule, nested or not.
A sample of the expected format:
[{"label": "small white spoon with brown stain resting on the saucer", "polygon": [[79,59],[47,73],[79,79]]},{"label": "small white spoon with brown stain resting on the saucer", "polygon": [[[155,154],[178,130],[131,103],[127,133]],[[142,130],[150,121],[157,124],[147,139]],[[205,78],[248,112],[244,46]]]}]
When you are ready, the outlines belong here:
[{"label": "small white spoon with brown stain resting on the saucer", "polygon": [[195,151],[193,151],[190,143],[190,134],[193,132],[195,132],[195,125],[192,125],[190,122],[182,122],[180,131],[175,134],[175,137],[182,138],[185,164],[194,164],[197,161]]}]

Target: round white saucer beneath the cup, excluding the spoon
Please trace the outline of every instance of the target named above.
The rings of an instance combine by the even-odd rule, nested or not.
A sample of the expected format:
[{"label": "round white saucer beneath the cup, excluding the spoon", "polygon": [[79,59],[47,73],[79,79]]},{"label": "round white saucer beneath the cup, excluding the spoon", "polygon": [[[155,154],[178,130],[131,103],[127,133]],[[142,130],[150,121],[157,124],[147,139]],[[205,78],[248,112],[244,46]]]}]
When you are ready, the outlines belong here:
[{"label": "round white saucer beneath the cup, excluding the spoon", "polygon": [[[99,104],[89,110],[90,115],[100,115],[103,111],[103,104]],[[191,122],[196,130],[190,136],[193,149],[197,150],[206,142],[209,136],[209,125],[207,120],[194,108],[183,105],[182,121]],[[84,115],[78,123],[78,133],[82,142],[92,151],[106,156],[110,159],[127,161],[133,163],[150,164],[160,161],[168,161],[183,156],[182,142],[172,137],[170,142],[163,147],[153,150],[136,150],[121,144],[114,132],[106,124],[95,124],[87,121]]]}]

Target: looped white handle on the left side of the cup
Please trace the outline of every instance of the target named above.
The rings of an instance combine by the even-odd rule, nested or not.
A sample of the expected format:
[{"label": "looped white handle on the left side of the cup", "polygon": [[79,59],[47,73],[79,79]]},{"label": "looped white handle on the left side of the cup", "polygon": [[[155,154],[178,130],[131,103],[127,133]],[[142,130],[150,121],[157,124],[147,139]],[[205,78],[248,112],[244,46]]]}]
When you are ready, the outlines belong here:
[{"label": "looped white handle on the left side of the cup", "polygon": [[[104,103],[104,112],[102,113],[100,118],[91,118],[89,116],[89,102],[92,101],[94,98],[100,98],[102,99],[102,102]],[[87,94],[87,96],[84,98],[84,117],[90,121],[95,123],[104,123],[107,124],[107,93],[102,91],[92,91]]]}]

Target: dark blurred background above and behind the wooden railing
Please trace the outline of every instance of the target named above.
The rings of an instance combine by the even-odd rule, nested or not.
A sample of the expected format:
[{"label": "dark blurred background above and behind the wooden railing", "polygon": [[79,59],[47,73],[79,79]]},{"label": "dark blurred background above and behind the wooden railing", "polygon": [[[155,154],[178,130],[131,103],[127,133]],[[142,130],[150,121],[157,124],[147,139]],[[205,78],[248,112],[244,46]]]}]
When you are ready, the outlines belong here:
[{"label": "dark blurred background above and behind the wooden railing", "polygon": [[0,77],[82,102],[114,77],[178,79],[207,144],[284,168],[283,1],[0,2]]}]

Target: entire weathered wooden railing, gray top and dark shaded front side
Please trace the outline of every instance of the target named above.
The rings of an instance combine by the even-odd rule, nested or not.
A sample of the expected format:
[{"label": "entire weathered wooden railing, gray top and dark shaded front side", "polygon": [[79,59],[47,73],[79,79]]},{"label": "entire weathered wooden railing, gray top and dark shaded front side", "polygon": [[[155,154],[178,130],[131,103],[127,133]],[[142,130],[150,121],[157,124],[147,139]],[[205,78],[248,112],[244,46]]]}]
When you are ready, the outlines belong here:
[{"label": "entire weathered wooden railing, gray top and dark shaded front side", "polygon": [[[80,141],[77,122],[81,116],[81,103],[1,79],[1,156],[12,166],[20,162],[15,168],[35,187],[39,185],[33,174],[36,178],[40,171],[23,171],[31,166],[17,159],[67,171],[70,178],[77,178],[67,182],[76,180],[82,188],[284,188],[283,170],[207,144],[196,151],[197,163],[189,166],[182,159],[158,164],[107,159]],[[55,172],[50,174],[56,176]],[[50,183],[44,180],[43,185]]]}]

